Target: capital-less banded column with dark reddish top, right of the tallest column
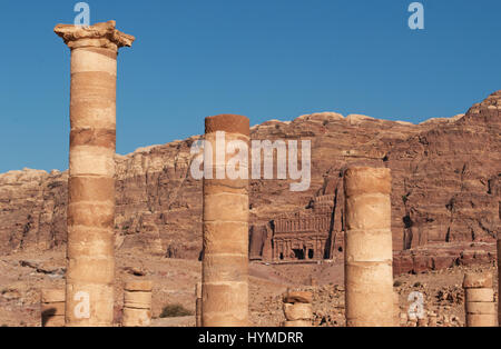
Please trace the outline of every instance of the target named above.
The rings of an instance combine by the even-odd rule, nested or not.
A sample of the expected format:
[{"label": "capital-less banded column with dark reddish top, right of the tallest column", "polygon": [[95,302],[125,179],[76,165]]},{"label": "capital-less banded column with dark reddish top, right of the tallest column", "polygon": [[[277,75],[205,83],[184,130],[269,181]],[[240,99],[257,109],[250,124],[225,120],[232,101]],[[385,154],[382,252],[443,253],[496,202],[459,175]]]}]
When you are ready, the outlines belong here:
[{"label": "capital-less banded column with dark reddish top, right of the tallest column", "polygon": [[233,114],[206,118],[205,141],[212,144],[213,163],[207,161],[206,146],[204,167],[213,179],[204,176],[202,325],[244,327],[248,326],[248,153],[245,163],[238,163],[245,179],[230,179],[227,170],[237,151],[226,149],[239,141],[248,151],[249,120]]}]

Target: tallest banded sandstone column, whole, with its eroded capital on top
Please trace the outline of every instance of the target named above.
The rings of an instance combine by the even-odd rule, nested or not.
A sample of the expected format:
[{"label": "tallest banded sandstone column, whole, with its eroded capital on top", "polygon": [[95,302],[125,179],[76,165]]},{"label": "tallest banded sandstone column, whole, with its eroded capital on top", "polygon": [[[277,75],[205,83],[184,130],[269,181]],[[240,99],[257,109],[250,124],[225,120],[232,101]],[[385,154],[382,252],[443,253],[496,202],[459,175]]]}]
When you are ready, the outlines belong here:
[{"label": "tallest banded sandstone column, whole, with its eroded capital on top", "polygon": [[66,323],[111,326],[117,53],[135,38],[115,21],[55,32],[71,49]]}]

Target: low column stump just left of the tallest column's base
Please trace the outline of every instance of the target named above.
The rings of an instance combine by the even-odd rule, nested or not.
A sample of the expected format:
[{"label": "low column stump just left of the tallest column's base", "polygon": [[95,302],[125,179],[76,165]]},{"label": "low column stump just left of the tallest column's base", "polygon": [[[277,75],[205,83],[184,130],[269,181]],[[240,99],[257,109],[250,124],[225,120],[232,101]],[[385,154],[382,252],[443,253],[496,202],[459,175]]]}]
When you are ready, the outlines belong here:
[{"label": "low column stump just left of the tallest column's base", "polygon": [[42,290],[40,311],[42,327],[65,327],[65,290]]}]

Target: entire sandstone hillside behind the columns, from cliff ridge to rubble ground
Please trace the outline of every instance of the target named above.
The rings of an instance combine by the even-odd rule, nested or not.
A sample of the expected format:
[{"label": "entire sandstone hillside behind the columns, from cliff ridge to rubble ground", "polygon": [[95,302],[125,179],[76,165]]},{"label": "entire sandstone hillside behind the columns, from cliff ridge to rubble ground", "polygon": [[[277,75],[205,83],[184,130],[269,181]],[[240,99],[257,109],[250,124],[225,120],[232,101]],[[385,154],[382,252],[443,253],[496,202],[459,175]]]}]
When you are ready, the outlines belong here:
[{"label": "entire sandstone hillside behind the columns, from cliff ridge to rubble ground", "polygon": [[[253,127],[253,139],[312,140],[310,190],[291,192],[288,180],[250,182],[253,323],[277,326],[281,295],[303,287],[314,292],[317,325],[343,325],[343,170],[356,163],[389,167],[393,173],[394,273],[402,311],[407,293],[421,290],[430,309],[443,315],[439,322],[461,326],[464,271],[495,275],[500,111],[498,91],[464,116],[421,124],[326,112]],[[154,325],[194,322],[158,316],[166,303],[195,305],[202,181],[189,176],[189,150],[198,138],[116,157],[117,322],[122,281],[129,278],[154,280]],[[63,285],[67,180],[59,171],[0,174],[0,307],[6,310],[0,325],[38,326],[39,290]],[[267,265],[281,235],[298,248],[312,237],[321,243],[308,245],[308,263],[298,263],[292,251]],[[317,286],[308,286],[312,279]]]}]

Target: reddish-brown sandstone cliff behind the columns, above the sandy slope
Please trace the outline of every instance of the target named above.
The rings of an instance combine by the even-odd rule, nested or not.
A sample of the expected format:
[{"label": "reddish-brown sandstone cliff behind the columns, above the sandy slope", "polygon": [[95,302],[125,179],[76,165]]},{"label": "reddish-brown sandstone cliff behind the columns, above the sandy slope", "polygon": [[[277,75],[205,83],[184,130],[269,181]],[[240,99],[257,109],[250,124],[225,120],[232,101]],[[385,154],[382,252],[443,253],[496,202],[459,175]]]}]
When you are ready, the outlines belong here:
[{"label": "reddish-brown sandstone cliff behind the columns, above the sandy slope", "polygon": [[[422,263],[446,266],[448,258],[461,260],[472,242],[489,250],[500,230],[500,111],[498,91],[464,116],[421,124],[326,112],[253,127],[252,139],[312,140],[312,180],[303,192],[289,191],[292,180],[249,181],[250,222],[257,233],[250,256],[271,259],[271,222],[284,215],[317,215],[315,198],[325,196],[332,207],[325,215],[333,222],[327,255],[340,255],[342,246],[334,241],[342,240],[344,229],[342,182],[348,163],[391,168],[393,249],[404,272],[421,270]],[[199,258],[202,180],[189,171],[190,146],[198,139],[116,157],[117,248]],[[66,172],[0,174],[0,250],[65,243],[66,202]]]}]

